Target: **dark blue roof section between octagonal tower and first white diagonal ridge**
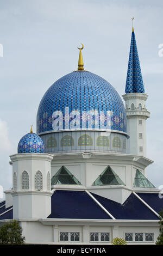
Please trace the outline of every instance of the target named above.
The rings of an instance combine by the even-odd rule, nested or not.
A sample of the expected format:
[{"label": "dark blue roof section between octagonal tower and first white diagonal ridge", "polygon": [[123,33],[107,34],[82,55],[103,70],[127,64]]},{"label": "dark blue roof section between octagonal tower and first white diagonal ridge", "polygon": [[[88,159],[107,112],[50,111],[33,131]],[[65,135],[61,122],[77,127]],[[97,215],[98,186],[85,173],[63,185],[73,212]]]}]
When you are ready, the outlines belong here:
[{"label": "dark blue roof section between octagonal tower and first white diagonal ridge", "polygon": [[48,218],[111,219],[85,191],[57,190]]}]

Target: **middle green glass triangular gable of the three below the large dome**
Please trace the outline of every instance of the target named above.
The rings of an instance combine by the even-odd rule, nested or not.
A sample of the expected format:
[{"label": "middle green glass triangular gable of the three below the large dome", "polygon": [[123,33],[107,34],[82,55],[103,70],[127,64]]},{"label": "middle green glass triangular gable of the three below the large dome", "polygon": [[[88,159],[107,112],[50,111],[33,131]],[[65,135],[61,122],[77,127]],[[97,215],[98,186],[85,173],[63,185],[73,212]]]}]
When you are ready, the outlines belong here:
[{"label": "middle green glass triangular gable of the three below the large dome", "polygon": [[104,171],[93,182],[92,186],[96,185],[124,185],[120,177],[111,169],[110,166],[106,167]]}]

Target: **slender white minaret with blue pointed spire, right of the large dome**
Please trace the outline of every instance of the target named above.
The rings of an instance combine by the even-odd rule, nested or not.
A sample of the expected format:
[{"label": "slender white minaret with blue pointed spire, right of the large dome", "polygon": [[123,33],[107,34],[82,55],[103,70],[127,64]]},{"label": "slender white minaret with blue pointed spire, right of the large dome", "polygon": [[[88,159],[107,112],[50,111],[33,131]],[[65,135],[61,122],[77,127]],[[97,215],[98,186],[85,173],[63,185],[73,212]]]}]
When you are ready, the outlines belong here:
[{"label": "slender white minaret with blue pointed spire, right of the large dome", "polygon": [[129,153],[146,157],[146,120],[150,112],[146,109],[148,95],[145,94],[143,86],[134,27],[131,34],[125,92],[126,94],[122,96],[126,103],[127,132],[130,136],[128,139]]}]

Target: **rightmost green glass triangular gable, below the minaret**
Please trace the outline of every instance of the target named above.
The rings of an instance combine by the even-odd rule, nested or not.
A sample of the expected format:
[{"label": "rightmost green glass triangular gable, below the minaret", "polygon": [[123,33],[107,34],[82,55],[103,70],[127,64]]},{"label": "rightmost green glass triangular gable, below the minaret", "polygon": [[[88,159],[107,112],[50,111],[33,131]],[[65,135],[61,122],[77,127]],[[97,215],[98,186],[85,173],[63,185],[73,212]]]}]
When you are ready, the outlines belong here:
[{"label": "rightmost green glass triangular gable, below the minaret", "polygon": [[155,187],[141,172],[136,170],[134,187]]}]

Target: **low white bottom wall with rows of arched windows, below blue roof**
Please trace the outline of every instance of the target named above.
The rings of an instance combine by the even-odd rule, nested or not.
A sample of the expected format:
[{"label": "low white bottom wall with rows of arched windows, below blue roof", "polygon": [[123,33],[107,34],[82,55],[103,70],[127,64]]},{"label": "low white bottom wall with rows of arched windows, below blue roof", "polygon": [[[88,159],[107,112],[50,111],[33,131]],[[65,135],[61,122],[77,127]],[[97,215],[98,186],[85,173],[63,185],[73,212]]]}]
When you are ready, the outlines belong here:
[{"label": "low white bottom wall with rows of arched windows, below blue roof", "polygon": [[[94,223],[93,223],[94,222]],[[64,224],[65,223],[65,224]],[[88,244],[88,245],[106,245],[111,244],[114,237],[122,237],[125,239],[126,233],[133,234],[133,241],[127,241],[131,245],[152,245],[155,243],[159,235],[159,224],[155,221],[82,221],[71,220],[66,221],[51,221],[40,222],[39,220],[24,220],[20,221],[23,228],[22,235],[26,237],[26,243],[42,243],[42,244],[61,244],[61,245],[76,245],[76,244]],[[78,232],[79,241],[60,241],[60,232]],[[109,233],[109,241],[91,241],[91,233]],[[143,241],[135,241],[135,233],[143,234]],[[153,233],[153,241],[146,241],[145,234]]]}]

